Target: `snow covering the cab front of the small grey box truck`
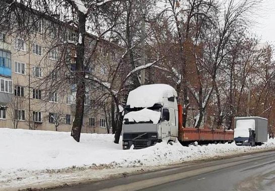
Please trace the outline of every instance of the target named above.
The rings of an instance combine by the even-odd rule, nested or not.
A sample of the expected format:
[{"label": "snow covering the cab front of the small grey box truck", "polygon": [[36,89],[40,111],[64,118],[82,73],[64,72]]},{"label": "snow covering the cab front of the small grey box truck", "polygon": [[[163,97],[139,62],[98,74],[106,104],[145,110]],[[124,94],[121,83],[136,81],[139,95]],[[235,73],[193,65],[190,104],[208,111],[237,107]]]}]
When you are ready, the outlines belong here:
[{"label": "snow covering the cab front of the small grey box truck", "polygon": [[249,129],[255,130],[255,120],[237,120],[234,138],[236,137],[249,137]]}]

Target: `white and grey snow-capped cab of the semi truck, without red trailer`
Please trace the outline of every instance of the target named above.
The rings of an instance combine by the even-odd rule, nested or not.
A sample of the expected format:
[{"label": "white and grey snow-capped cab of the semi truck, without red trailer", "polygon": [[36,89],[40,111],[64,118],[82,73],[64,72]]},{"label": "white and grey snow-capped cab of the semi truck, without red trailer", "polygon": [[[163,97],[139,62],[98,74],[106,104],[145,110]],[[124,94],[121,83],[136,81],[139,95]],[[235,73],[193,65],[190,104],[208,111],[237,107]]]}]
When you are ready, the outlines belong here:
[{"label": "white and grey snow-capped cab of the semi truck, without red trailer", "polygon": [[177,92],[166,84],[137,87],[129,92],[122,125],[123,149],[146,148],[178,137]]}]

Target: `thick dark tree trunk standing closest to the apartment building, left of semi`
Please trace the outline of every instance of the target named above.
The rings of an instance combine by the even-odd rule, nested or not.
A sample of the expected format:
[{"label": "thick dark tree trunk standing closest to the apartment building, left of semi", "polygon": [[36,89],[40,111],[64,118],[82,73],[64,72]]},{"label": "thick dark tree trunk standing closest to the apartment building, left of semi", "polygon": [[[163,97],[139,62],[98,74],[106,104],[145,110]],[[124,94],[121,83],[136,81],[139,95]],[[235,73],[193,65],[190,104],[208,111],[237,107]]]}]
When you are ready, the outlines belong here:
[{"label": "thick dark tree trunk standing closest to the apartment building, left of semi", "polygon": [[85,100],[85,72],[83,72],[84,67],[84,39],[85,39],[85,25],[86,16],[82,12],[78,12],[79,16],[79,32],[82,37],[82,43],[77,44],[77,60],[76,60],[76,79],[77,79],[77,94],[76,94],[76,112],[75,120],[73,122],[71,136],[79,142],[80,134],[83,122],[84,113],[84,100]]}]

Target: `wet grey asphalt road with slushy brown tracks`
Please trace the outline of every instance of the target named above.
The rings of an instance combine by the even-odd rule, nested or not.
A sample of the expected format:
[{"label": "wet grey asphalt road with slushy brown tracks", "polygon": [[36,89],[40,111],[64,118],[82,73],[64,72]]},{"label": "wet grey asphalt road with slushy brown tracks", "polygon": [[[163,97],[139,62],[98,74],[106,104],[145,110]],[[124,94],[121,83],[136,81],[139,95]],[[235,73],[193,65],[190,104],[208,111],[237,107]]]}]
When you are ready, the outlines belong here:
[{"label": "wet grey asphalt road with slushy brown tracks", "polygon": [[176,165],[163,170],[54,189],[275,191],[275,151],[211,162]]}]

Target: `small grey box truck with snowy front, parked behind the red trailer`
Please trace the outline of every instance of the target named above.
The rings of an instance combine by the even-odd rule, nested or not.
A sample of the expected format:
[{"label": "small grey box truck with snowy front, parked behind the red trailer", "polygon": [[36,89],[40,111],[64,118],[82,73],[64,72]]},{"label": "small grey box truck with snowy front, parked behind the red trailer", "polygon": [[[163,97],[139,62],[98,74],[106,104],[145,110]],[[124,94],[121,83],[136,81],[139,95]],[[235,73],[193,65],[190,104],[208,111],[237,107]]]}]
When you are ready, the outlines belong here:
[{"label": "small grey box truck with snowy front, parked behind the red trailer", "polygon": [[260,117],[234,118],[236,145],[257,146],[267,141],[267,119]]}]

